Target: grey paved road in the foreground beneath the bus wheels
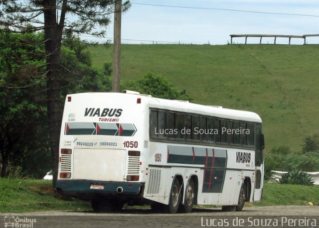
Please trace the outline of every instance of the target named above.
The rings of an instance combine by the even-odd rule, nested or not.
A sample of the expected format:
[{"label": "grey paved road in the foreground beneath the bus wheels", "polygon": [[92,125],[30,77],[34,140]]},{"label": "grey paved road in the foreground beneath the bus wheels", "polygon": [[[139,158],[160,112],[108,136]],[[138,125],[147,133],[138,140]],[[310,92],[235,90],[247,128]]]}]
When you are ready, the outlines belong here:
[{"label": "grey paved road in the foreground beneath the bus wheels", "polygon": [[49,211],[0,216],[18,217],[21,224],[35,219],[33,228],[319,227],[319,206],[245,207],[242,212],[196,208],[189,214],[176,215],[124,209],[120,213],[103,214]]}]

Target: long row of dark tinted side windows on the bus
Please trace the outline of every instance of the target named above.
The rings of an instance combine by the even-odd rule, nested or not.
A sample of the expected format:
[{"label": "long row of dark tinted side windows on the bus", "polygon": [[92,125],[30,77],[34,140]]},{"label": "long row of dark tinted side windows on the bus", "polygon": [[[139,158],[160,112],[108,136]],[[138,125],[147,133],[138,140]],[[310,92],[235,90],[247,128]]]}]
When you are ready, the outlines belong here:
[{"label": "long row of dark tinted side windows on the bus", "polygon": [[255,123],[164,110],[150,111],[150,137],[252,147]]}]

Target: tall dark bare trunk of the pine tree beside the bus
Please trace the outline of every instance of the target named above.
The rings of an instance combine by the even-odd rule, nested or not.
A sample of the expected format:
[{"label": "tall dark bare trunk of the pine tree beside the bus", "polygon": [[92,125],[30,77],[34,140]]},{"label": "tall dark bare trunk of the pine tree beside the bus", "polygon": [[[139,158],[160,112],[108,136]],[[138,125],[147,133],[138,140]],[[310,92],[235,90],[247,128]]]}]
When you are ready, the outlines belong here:
[{"label": "tall dark bare trunk of the pine tree beside the bus", "polygon": [[56,21],[56,0],[44,0],[44,39],[47,62],[47,112],[51,165],[53,170],[53,188],[57,179],[59,162],[59,138],[63,103],[60,99],[60,49],[62,28]]}]

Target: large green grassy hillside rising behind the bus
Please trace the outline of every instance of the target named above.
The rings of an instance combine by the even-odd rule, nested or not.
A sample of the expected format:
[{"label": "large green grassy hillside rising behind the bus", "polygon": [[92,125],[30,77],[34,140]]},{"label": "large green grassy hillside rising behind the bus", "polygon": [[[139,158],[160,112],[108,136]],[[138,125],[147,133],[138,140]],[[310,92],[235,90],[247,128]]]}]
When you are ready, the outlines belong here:
[{"label": "large green grassy hillside rising behind the bus", "polygon": [[[113,62],[113,46],[90,47],[93,65]],[[252,111],[266,148],[302,148],[319,132],[319,45],[122,45],[122,79],[148,72],[186,90],[194,103]]]}]

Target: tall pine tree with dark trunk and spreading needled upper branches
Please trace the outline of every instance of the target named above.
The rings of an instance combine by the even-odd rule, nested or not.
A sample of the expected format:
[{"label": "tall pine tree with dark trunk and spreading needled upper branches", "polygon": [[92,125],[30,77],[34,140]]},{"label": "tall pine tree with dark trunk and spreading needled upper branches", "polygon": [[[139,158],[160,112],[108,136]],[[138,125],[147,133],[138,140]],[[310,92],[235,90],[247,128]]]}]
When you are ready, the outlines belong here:
[{"label": "tall pine tree with dark trunk and spreading needled upper branches", "polygon": [[[107,26],[117,0],[1,0],[0,28],[8,32],[44,31],[46,55],[47,115],[52,157],[53,187],[57,179],[59,134],[63,102],[61,101],[60,54],[63,36],[91,34]],[[122,5],[126,11],[130,2]],[[70,16],[67,18],[67,16]],[[43,17],[43,20],[42,20]],[[30,26],[30,24],[32,26]]]}]

